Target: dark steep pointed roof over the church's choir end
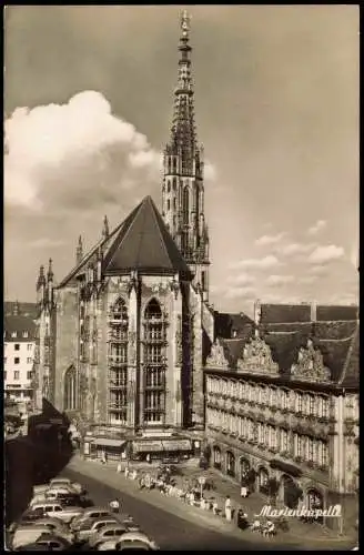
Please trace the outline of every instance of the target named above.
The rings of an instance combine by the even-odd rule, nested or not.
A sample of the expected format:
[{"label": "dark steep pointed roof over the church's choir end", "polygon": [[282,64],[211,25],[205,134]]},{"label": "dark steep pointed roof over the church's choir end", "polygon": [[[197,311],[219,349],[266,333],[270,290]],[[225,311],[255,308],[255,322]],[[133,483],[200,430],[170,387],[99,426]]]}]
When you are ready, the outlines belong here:
[{"label": "dark steep pointed roof over the church's choir end", "polygon": [[145,196],[127,218],[104,255],[107,275],[131,270],[190,273],[151,196]]}]

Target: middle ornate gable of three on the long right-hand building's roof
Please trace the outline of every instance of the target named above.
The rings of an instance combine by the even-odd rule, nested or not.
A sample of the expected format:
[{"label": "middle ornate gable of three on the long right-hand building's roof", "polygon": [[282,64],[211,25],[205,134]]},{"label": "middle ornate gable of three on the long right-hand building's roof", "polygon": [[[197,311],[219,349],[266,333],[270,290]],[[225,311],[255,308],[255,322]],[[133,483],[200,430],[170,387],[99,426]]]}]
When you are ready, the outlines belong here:
[{"label": "middle ornate gable of three on the long right-hand building's roof", "polygon": [[237,370],[257,374],[280,374],[280,367],[272,359],[270,346],[259,336],[253,337],[244,346],[243,354],[237,360]]}]

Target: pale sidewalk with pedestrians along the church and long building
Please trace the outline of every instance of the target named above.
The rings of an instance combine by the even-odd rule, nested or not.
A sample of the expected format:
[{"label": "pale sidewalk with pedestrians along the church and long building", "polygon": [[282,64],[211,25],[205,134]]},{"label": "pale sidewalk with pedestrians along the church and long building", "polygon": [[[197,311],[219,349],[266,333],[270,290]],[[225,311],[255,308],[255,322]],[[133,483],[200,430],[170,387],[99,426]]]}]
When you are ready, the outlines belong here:
[{"label": "pale sidewalk with pedestrians along the church and long building", "polygon": [[[131,465],[136,467],[136,465]],[[289,532],[279,532],[279,534],[273,538],[264,538],[263,536],[253,533],[249,529],[240,531],[236,528],[234,523],[228,523],[223,517],[215,516],[208,511],[202,511],[199,507],[193,507],[188,505],[186,503],[179,501],[175,497],[168,497],[165,495],[161,495],[158,491],[152,490],[150,492],[140,491],[138,486],[138,482],[128,480],[124,477],[124,474],[118,474],[117,463],[108,463],[108,465],[102,465],[100,462],[94,461],[84,461],[80,456],[74,456],[68,468],[74,470],[75,472],[80,472],[81,474],[85,474],[95,480],[102,480],[105,484],[111,487],[121,488],[125,493],[133,495],[142,500],[144,503],[149,503],[151,505],[158,506],[164,511],[170,511],[174,513],[176,516],[190,521],[192,523],[200,523],[203,526],[206,526],[211,529],[216,531],[216,528],[229,535],[234,535],[239,538],[249,539],[252,543],[261,544],[264,548],[266,544],[285,544],[285,545],[294,545],[296,548],[299,544],[302,548],[312,549],[312,548],[325,548],[330,545],[332,549],[332,545],[335,545],[335,548],[350,548],[354,545],[354,541],[348,537],[338,537],[332,531],[327,528],[322,528],[312,525],[305,525],[300,521],[294,521],[293,518],[290,522],[290,531]],[[138,464],[139,470],[151,470],[151,465]],[[153,468],[153,467],[152,467]],[[111,471],[111,472],[110,472]],[[260,494],[253,494],[247,500],[241,500],[240,497],[240,488],[231,478],[224,477],[221,474],[216,473],[214,470],[201,471],[200,468],[193,467],[184,467],[183,468],[183,477],[198,477],[198,476],[209,476],[213,480],[215,485],[215,491],[208,492],[209,497],[215,497],[219,503],[219,507],[222,508],[224,505],[224,500],[226,495],[231,496],[234,508],[239,508],[240,506],[244,506],[247,512],[250,521],[252,521],[254,514],[259,514],[266,503],[266,500]],[[179,480],[181,481],[181,478]],[[242,503],[243,502],[243,503]]]}]

